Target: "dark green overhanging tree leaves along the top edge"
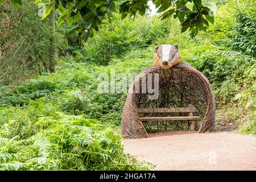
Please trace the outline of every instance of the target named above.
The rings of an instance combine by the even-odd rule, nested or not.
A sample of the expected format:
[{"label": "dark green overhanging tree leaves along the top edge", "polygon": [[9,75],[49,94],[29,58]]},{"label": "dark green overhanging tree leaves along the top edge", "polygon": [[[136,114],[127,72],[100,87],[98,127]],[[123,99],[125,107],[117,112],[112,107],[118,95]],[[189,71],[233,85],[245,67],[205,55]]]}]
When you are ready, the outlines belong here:
[{"label": "dark green overhanging tree leaves along the top edge", "polygon": [[[0,1],[3,3],[4,0]],[[8,1],[8,0],[7,0]],[[22,0],[11,0],[14,7],[22,5]],[[82,19],[84,24],[72,28],[68,36],[78,32],[77,39],[87,40],[92,38],[94,31],[98,31],[103,19],[107,13],[117,12],[121,14],[121,18],[125,19],[127,15],[135,18],[136,15],[145,15],[149,9],[148,0],[136,1],[117,1],[117,0],[35,0],[36,5],[47,6],[42,13],[42,19],[46,18],[52,11],[57,10],[60,14],[57,22],[59,27],[63,22],[67,22],[68,26]],[[174,17],[179,19],[181,25],[181,33],[189,28],[191,36],[195,37],[199,30],[205,31],[209,27],[209,23],[214,23],[214,16],[209,7],[204,6],[201,0],[152,0],[157,12],[162,13],[161,19]]]}]

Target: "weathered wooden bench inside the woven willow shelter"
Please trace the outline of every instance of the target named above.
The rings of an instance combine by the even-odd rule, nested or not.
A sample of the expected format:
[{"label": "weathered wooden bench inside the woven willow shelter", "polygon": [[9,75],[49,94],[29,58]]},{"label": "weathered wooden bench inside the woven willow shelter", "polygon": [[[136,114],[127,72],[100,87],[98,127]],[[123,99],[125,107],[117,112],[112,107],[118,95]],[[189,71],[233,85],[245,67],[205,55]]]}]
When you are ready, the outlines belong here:
[{"label": "weathered wooden bench inside the woven willow shelter", "polygon": [[[196,107],[168,107],[168,108],[138,108],[137,109],[143,125],[149,121],[189,121],[191,130],[195,130],[195,121],[201,117],[193,116]],[[188,116],[180,117],[144,117],[144,113],[188,113]]]}]

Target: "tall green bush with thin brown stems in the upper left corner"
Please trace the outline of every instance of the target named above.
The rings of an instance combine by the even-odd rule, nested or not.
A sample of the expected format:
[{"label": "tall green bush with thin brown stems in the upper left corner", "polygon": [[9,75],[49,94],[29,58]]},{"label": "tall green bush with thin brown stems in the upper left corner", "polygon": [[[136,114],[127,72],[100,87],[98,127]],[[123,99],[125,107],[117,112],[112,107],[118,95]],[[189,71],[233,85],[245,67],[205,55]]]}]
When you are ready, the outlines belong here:
[{"label": "tall green bush with thin brown stems in the upper left corner", "polygon": [[34,3],[24,0],[23,5],[18,10],[8,3],[0,6],[0,86],[15,87],[31,76],[54,72],[57,49],[65,48],[54,16],[41,21]]}]

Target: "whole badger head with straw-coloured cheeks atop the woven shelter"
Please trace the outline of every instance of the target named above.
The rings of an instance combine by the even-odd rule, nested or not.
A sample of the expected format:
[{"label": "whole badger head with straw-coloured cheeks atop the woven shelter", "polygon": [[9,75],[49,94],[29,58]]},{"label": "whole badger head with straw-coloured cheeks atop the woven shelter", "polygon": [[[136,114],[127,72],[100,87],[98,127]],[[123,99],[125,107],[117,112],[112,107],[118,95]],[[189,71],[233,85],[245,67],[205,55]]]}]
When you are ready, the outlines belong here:
[{"label": "whole badger head with straw-coloured cheeks atop the woven shelter", "polygon": [[171,68],[176,64],[181,64],[182,59],[179,53],[179,47],[174,45],[155,46],[155,55],[153,65],[160,65],[163,69]]}]

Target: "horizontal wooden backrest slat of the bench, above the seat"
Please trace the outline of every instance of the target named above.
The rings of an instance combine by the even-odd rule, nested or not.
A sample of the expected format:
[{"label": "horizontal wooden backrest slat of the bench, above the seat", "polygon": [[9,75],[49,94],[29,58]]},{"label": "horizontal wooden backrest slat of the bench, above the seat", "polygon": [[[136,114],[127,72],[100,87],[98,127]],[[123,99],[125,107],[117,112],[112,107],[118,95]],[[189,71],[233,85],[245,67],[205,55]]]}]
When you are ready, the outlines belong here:
[{"label": "horizontal wooden backrest slat of the bench, above the seat", "polygon": [[138,108],[138,113],[193,113],[196,107]]}]

